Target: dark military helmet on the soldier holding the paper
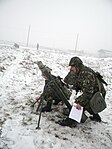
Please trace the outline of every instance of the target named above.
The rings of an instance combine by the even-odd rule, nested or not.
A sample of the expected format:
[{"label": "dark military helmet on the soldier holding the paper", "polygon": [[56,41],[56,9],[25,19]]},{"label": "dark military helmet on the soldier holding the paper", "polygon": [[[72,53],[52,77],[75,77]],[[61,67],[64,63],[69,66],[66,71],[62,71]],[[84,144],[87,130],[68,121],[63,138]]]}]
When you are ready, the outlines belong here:
[{"label": "dark military helmet on the soldier holding the paper", "polygon": [[82,60],[79,57],[72,57],[70,62],[69,62],[69,66],[76,66],[76,67],[80,67],[83,64]]}]

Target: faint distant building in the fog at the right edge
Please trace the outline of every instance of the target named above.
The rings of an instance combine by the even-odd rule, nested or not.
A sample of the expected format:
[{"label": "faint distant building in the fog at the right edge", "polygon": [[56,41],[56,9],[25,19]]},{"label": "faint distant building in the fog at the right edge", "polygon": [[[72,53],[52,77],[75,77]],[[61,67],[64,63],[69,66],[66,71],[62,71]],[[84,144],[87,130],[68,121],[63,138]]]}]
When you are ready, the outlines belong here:
[{"label": "faint distant building in the fog at the right edge", "polygon": [[100,50],[98,50],[98,55],[101,58],[112,57],[112,51],[100,49]]}]

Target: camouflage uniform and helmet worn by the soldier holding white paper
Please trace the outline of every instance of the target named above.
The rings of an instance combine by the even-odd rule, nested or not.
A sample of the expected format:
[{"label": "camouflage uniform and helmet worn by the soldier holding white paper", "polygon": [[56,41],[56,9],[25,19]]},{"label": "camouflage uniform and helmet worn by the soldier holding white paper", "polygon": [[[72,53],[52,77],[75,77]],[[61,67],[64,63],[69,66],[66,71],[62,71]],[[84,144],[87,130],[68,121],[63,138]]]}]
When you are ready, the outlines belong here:
[{"label": "camouflage uniform and helmet worn by the soldier holding white paper", "polygon": [[[75,89],[82,91],[82,95],[77,97],[75,102],[83,106],[90,114],[93,114],[90,107],[90,99],[93,97],[94,93],[99,91],[96,73],[91,68],[84,66],[83,62],[78,57],[73,57],[69,65],[77,68],[73,85]],[[101,81],[100,85],[102,96],[105,98],[106,91]]]}]

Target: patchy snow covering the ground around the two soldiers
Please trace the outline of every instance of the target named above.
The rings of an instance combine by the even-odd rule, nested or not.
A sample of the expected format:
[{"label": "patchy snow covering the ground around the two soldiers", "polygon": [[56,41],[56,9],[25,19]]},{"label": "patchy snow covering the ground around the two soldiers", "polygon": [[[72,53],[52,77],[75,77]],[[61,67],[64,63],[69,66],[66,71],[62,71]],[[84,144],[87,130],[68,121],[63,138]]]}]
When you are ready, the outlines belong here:
[{"label": "patchy snow covering the ground around the two soldiers", "polygon": [[109,57],[80,55],[84,64],[99,71],[108,83],[107,109],[100,113],[101,123],[88,118],[75,128],[60,126],[55,123],[63,118],[59,104],[53,106],[52,112],[42,113],[40,129],[36,129],[39,115],[34,111],[38,104],[32,109],[31,103],[42,93],[44,79],[35,62],[41,60],[52,69],[52,74],[64,78],[69,71],[69,60],[75,55],[73,51],[41,48],[37,51],[36,48],[0,45],[0,148],[112,148],[112,58]]}]

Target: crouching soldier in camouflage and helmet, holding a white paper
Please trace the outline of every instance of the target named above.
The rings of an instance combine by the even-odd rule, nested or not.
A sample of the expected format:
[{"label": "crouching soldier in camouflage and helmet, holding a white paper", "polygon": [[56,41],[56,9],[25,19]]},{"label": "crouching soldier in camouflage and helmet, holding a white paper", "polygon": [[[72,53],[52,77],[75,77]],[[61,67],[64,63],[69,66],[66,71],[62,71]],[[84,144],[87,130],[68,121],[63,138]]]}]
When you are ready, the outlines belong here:
[{"label": "crouching soldier in camouflage and helmet, holding a white paper", "polygon": [[[72,75],[75,76],[74,78],[72,77],[73,81],[71,84],[72,85],[74,84],[73,86],[75,90],[82,91],[82,95],[80,95],[79,97],[75,99],[76,108],[80,110],[81,106],[83,106],[84,111],[86,110],[90,113],[90,115],[92,115],[90,116],[91,120],[101,122],[100,115],[98,113],[94,113],[90,107],[91,98],[97,91],[99,91],[99,86],[98,86],[95,72],[91,68],[84,66],[82,60],[79,57],[71,58],[69,62],[69,66],[71,66],[70,67],[71,76]],[[65,81],[67,81],[67,78],[65,78]],[[68,81],[71,82],[71,80],[69,79]],[[100,80],[101,93],[102,93],[103,98],[105,98],[106,91],[103,86],[103,83]],[[76,126],[77,125],[76,121],[68,117],[64,120],[59,121],[58,124],[62,126],[72,126],[72,125]]]}]

